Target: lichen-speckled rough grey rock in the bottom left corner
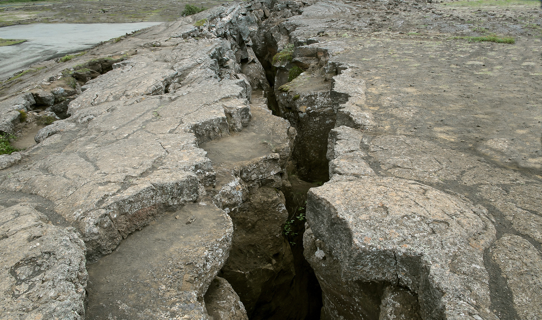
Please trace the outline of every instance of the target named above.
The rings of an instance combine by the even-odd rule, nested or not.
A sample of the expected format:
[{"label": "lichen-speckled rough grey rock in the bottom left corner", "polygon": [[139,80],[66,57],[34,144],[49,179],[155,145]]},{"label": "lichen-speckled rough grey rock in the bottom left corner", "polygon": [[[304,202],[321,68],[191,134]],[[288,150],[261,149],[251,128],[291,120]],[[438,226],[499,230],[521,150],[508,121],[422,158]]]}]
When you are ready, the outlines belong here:
[{"label": "lichen-speckled rough grey rock in the bottom left corner", "polygon": [[73,227],[48,223],[33,203],[0,210],[3,319],[85,319],[85,244]]}]

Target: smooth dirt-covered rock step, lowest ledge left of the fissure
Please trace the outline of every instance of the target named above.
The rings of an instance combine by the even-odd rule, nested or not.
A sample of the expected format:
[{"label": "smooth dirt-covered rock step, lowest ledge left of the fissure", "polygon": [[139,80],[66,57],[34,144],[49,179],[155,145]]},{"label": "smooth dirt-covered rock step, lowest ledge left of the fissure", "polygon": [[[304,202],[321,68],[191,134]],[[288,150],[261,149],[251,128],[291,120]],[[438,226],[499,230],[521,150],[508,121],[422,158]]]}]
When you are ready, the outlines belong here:
[{"label": "smooth dirt-covered rock step, lowest ledge left of the fissure", "polygon": [[165,213],[88,265],[87,319],[207,317],[203,295],[232,233],[230,217],[210,201]]}]

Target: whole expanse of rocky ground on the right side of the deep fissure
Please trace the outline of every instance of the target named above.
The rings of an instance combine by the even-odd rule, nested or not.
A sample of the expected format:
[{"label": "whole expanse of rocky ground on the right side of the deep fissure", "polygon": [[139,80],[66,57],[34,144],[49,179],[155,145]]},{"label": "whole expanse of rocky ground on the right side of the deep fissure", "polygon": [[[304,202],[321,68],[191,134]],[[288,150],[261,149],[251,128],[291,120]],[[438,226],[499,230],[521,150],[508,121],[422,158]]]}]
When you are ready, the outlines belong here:
[{"label": "whole expanse of rocky ground on the right side of the deep fissure", "polygon": [[[462,97],[472,99],[472,94],[466,95],[468,90],[462,87],[465,83],[449,81],[456,76],[456,70],[441,71],[440,75],[446,75],[442,77],[446,81],[436,80],[433,74],[429,80],[423,72],[412,71],[438,68],[417,68],[436,61],[433,55],[438,50],[430,49],[434,44],[418,46],[422,42],[401,36],[413,27],[408,16],[422,12],[414,9],[425,8],[425,4],[417,3],[411,13],[405,13],[410,11],[403,5],[408,4],[315,3],[303,8],[301,15],[279,22],[274,29],[273,41],[267,40],[278,49],[285,48],[286,43],[295,45],[288,58],[275,63],[279,68],[275,77],[278,113],[298,129],[299,141],[304,141],[301,145],[305,153],[296,153],[294,147],[294,159],[308,160],[301,163],[302,167],[311,161],[310,151],[314,150],[317,151],[314,154],[326,154],[329,161],[331,180],[313,190],[310,193],[313,197],[308,199],[307,207],[311,209],[307,216],[311,229],[305,234],[304,241],[307,260],[324,290],[323,317],[493,319],[496,316],[532,316],[533,309],[525,304],[524,296],[517,289],[528,285],[524,275],[534,275],[540,269],[540,179],[530,174],[537,172],[539,167],[537,152],[540,151],[533,147],[538,145],[539,137],[530,129],[532,126],[528,126],[530,120],[521,124],[524,120],[519,116],[534,119],[531,111],[524,112],[530,105],[518,106],[514,102],[514,111],[499,109],[513,119],[513,123],[519,123],[514,128],[524,128],[512,133],[508,123],[498,125],[502,117],[492,109],[495,103],[507,101],[505,96],[512,89],[506,89],[499,97],[478,92],[482,94],[478,100],[480,106],[470,109],[472,100],[456,101]],[[447,7],[440,6],[440,10],[444,8]],[[459,30],[454,22],[457,17],[451,14],[452,9],[447,10],[450,10],[447,11],[449,16],[432,11],[438,19],[444,20],[429,29],[452,34],[455,31],[450,30]],[[398,35],[371,33],[371,30],[381,30],[383,25],[400,32]],[[431,32],[425,30],[424,34],[431,35]],[[462,49],[457,45],[447,43],[442,55],[437,53],[439,61],[449,60],[451,56],[463,57],[459,53]],[[429,58],[424,50],[430,51]],[[450,67],[479,63],[475,54],[483,56],[491,50],[484,46],[469,48],[470,56],[464,61],[453,62]],[[511,50],[503,50],[502,55]],[[423,58],[418,60],[418,56]],[[526,58],[524,66],[532,65],[530,59]],[[415,62],[404,62],[411,60]],[[486,66],[485,62],[480,62],[482,64]],[[293,66],[305,72],[287,83],[288,71]],[[518,68],[519,64],[515,66]],[[469,79],[481,79],[478,71],[468,70]],[[529,72],[532,74],[533,71]],[[495,87],[502,86],[495,79],[487,76],[479,81],[483,86],[493,88],[488,92],[498,92]],[[438,88],[444,89],[438,90],[438,94],[433,93],[436,83]],[[320,87],[320,84],[326,87]],[[517,89],[521,88],[515,86],[513,90]],[[483,90],[479,88],[478,91]],[[311,94],[326,98],[305,99]],[[428,94],[434,99],[427,99]],[[447,97],[442,99],[441,95]],[[311,121],[305,127],[300,125],[304,123],[302,117],[306,116],[306,110],[314,112],[326,107],[330,107],[328,114],[321,113],[322,117],[312,119],[307,117]],[[501,138],[502,135],[508,137]],[[325,163],[321,156],[318,159],[320,164]],[[516,165],[520,169],[515,169]],[[526,171],[522,172],[524,169]],[[300,172],[303,172],[302,168]],[[402,247],[403,243],[395,244],[393,241],[397,239],[383,231],[396,230],[398,224],[411,222],[410,219],[395,219],[388,207],[394,201],[408,203],[411,198],[402,192],[409,193],[412,188],[420,188],[431,198],[422,201],[417,197],[425,195],[418,194],[410,207],[401,207],[398,212],[407,214],[421,210],[427,213],[427,223],[423,224],[427,228],[425,233],[439,234],[417,238],[422,237],[423,225],[401,228],[397,239],[427,241],[421,247],[435,250],[423,249],[419,251],[423,254],[418,256],[406,253],[408,250]],[[375,189],[382,194],[376,193]],[[320,194],[318,190],[329,194]],[[367,204],[357,203],[356,199],[367,201]],[[452,214],[454,207],[456,213]],[[356,214],[363,210],[367,211],[367,217]],[[440,228],[438,223],[441,221],[431,215],[441,217],[442,213],[442,217],[447,218],[442,220],[446,223]],[[461,222],[454,225],[449,219]],[[329,229],[335,222],[330,221],[335,220],[341,221],[343,224],[337,224],[343,228],[333,232]],[[502,236],[506,233],[517,238]],[[372,239],[369,244],[363,242],[365,237]],[[492,244],[495,239],[498,240]],[[513,249],[505,250],[503,243]],[[371,246],[373,244],[375,247]],[[438,246],[440,251],[435,249]],[[442,249],[444,247],[446,249]],[[389,262],[384,261],[385,250],[393,252]],[[518,264],[512,251],[529,257],[529,262]],[[363,258],[356,260],[357,257]],[[408,263],[405,262],[407,257],[411,258]],[[371,273],[372,267],[367,263],[375,263],[374,268],[380,273]],[[421,266],[416,275],[427,278],[409,282],[407,278],[415,274],[412,270],[395,274],[390,271],[389,276],[385,275],[385,265],[400,269],[405,263]],[[512,271],[507,264],[517,265],[522,271],[510,276]],[[408,290],[401,291],[397,284]],[[538,287],[535,285],[535,289],[530,290],[537,297],[534,299],[539,299]],[[402,309],[403,305],[405,309]],[[417,311],[409,314],[408,309]]]}]

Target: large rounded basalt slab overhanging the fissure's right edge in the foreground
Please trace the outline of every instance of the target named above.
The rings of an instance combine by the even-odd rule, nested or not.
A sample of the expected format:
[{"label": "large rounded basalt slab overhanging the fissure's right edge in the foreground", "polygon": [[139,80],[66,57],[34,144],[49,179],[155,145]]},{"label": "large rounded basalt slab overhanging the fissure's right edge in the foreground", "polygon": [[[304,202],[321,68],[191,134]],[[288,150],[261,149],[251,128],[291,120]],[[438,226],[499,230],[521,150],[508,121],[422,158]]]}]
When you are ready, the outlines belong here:
[{"label": "large rounded basalt slab overhanging the fissure's right edge in the foreground", "polygon": [[[385,284],[415,293],[422,318],[494,317],[483,263],[495,239],[487,214],[397,178],[312,188],[305,256],[322,285],[325,318],[377,316]],[[357,303],[360,297],[370,303]]]}]

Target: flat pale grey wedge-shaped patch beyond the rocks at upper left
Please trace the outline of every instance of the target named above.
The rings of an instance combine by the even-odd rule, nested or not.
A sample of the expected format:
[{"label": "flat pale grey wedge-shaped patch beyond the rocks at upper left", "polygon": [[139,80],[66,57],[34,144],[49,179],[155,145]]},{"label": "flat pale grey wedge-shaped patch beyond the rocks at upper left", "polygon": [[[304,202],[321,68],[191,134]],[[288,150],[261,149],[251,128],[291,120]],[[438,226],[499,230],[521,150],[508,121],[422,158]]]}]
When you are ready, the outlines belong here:
[{"label": "flat pale grey wedge-shaped patch beyond the rocks at upper left", "polygon": [[74,53],[162,22],[35,23],[0,28],[0,38],[27,42],[0,47],[0,80],[31,64]]}]

